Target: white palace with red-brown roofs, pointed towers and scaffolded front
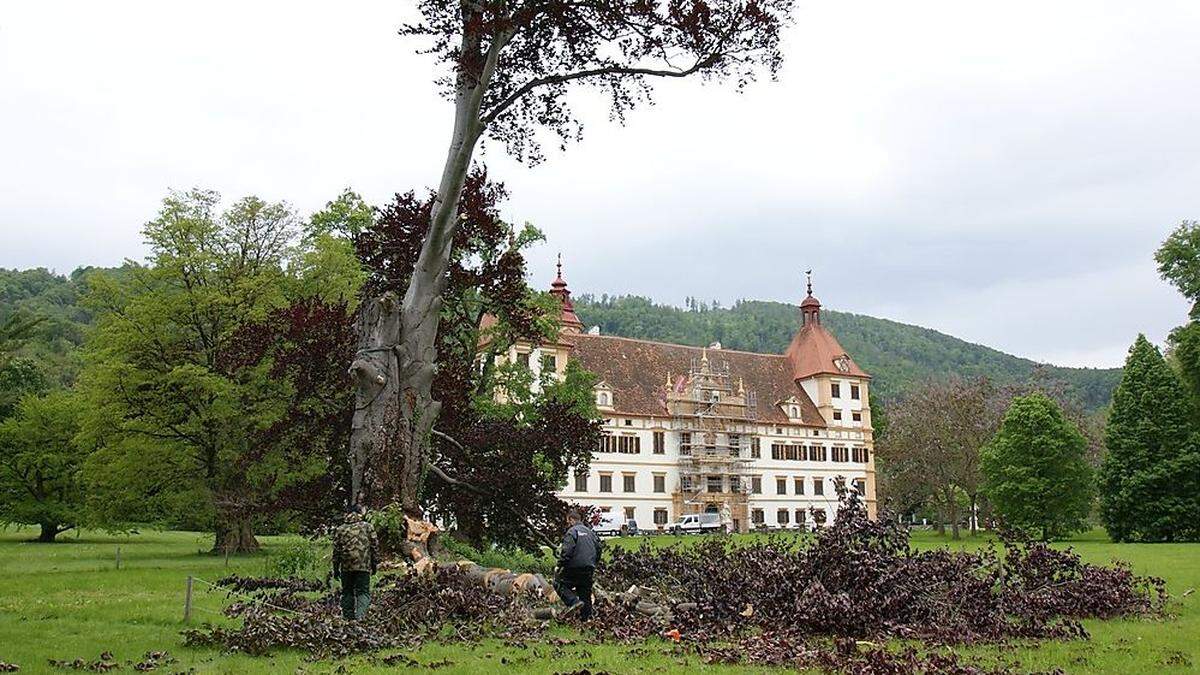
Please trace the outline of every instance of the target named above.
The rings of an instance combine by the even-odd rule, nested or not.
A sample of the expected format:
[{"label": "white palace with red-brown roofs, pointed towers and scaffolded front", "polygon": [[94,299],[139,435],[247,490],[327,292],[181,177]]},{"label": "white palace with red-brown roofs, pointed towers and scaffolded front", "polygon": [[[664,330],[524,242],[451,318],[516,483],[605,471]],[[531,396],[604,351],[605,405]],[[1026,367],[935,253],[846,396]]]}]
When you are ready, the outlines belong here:
[{"label": "white palace with red-brown roofs, pointed towers and scaffolded front", "polygon": [[562,262],[551,293],[562,303],[558,339],[499,358],[526,360],[535,378],[560,377],[574,358],[600,378],[604,438],[562,498],[643,530],[691,513],[722,514],[743,532],[812,527],[836,512],[840,477],[875,515],[870,376],[821,324],[811,279],[782,354],[586,331]]}]

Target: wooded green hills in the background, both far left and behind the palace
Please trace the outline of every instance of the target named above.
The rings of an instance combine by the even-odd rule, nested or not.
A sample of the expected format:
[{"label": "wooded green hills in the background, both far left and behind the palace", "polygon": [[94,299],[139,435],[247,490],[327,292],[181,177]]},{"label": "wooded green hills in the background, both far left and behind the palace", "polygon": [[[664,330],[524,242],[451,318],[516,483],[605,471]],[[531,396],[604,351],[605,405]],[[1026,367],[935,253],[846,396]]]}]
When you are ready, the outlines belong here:
[{"label": "wooded green hills in the background, both far left and behind the palace", "polygon": [[[83,341],[90,315],[78,305],[88,269],[60,276],[44,269],[0,269],[0,321],[14,311],[40,317],[37,336],[17,356],[38,364],[47,381],[70,383],[78,369],[74,346]],[[731,350],[781,353],[796,333],[799,310],[784,303],[744,300],[732,307],[689,301],[659,305],[638,297],[581,295],[576,310],[587,325],[611,335],[683,345],[720,341]],[[948,374],[985,375],[997,382],[1034,376],[1058,380],[1087,410],[1108,405],[1120,369],[1039,365],[958,338],[870,316],[823,310],[826,325],[846,351],[875,376],[875,394],[887,400],[913,382]]]}]

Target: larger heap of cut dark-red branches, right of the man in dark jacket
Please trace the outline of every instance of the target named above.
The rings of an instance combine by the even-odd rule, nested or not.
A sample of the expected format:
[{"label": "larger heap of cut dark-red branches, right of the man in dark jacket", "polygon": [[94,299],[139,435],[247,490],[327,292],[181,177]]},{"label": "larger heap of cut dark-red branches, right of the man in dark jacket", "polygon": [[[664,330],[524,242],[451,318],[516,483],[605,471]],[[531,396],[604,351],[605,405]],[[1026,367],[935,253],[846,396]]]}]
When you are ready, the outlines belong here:
[{"label": "larger heap of cut dark-red branches, right of the man in dark jacket", "polygon": [[1006,542],[978,552],[914,551],[892,520],[870,520],[839,485],[841,508],[810,543],[775,538],[730,545],[617,550],[617,586],[656,586],[697,611],[680,631],[716,637],[744,631],[938,643],[1082,638],[1080,619],[1158,611],[1163,581],[1124,566],[1097,567],[1070,550]]}]

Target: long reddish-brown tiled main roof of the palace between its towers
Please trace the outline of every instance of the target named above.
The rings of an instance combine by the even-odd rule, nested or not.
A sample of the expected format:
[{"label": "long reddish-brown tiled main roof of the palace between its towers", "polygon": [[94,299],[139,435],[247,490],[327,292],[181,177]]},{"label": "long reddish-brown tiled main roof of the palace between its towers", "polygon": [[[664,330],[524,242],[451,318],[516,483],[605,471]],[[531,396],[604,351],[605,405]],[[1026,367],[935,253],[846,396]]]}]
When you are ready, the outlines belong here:
[{"label": "long reddish-brown tiled main roof of the palace between its towers", "polygon": [[[572,335],[571,356],[583,368],[595,372],[613,392],[617,414],[666,416],[666,378],[676,380],[674,388],[685,387],[684,377],[694,358],[702,358],[701,347],[668,345],[612,335]],[[768,424],[788,424],[776,401],[794,398],[800,405],[800,424],[826,426],[821,412],[804,389],[796,383],[792,365],[782,354],[756,354],[733,350],[708,352],[709,358],[728,363],[730,374],[740,378],[746,392],[758,400],[758,420]]]}]

